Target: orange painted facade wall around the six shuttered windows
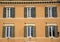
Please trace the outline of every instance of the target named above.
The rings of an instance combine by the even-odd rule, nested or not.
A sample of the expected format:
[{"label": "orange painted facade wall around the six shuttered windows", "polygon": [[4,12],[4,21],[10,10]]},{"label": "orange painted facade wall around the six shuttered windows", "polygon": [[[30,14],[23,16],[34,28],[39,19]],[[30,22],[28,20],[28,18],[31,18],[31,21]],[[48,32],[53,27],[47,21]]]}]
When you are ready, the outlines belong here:
[{"label": "orange painted facade wall around the six shuttered windows", "polygon": [[[3,18],[3,8],[5,6],[15,7],[15,18]],[[24,18],[24,7],[34,6],[36,7],[36,18]],[[56,6],[57,17],[45,18],[45,7]],[[14,23],[15,37],[14,38],[2,38],[3,23]],[[24,25],[25,23],[34,23],[36,25],[36,38],[24,37]],[[58,38],[46,38],[45,26],[46,23],[56,23],[58,25],[58,32],[60,32],[60,4],[7,4],[0,5],[0,42],[60,42]]]}]

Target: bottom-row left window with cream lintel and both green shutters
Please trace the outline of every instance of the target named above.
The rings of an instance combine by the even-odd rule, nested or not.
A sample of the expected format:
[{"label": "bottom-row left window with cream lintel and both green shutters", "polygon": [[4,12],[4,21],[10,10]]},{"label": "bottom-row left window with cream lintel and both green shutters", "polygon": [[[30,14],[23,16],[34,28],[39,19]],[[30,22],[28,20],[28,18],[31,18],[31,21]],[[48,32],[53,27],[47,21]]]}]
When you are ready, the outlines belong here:
[{"label": "bottom-row left window with cream lintel and both green shutters", "polygon": [[10,37],[14,37],[14,31],[15,28],[12,24],[5,24],[3,26],[3,37],[4,38],[10,38]]}]

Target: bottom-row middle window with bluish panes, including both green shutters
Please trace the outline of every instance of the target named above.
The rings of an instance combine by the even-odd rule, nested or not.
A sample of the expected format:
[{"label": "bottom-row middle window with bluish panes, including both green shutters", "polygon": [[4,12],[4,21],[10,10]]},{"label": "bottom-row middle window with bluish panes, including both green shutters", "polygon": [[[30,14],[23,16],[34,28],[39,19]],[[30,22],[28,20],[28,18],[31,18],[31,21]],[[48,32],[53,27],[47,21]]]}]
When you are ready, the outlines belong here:
[{"label": "bottom-row middle window with bluish panes, including both green shutters", "polygon": [[25,25],[24,27],[24,37],[35,37],[36,36],[36,28],[33,25]]}]

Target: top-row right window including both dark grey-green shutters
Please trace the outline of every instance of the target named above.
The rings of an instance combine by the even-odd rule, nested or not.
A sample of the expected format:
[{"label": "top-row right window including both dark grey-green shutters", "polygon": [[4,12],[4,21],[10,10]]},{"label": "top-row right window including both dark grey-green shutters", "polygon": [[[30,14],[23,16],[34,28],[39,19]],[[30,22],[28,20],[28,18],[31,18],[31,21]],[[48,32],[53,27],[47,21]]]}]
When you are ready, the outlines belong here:
[{"label": "top-row right window including both dark grey-green shutters", "polygon": [[45,7],[45,17],[57,17],[57,7]]}]

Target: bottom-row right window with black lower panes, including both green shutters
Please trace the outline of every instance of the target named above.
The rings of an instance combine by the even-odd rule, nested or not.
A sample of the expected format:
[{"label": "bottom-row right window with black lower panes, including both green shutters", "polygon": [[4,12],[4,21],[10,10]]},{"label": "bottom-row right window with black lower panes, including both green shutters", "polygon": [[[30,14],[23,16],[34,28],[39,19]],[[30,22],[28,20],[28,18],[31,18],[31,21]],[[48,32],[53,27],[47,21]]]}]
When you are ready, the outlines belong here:
[{"label": "bottom-row right window with black lower panes, including both green shutters", "polygon": [[58,37],[58,27],[57,25],[46,26],[46,37]]}]

